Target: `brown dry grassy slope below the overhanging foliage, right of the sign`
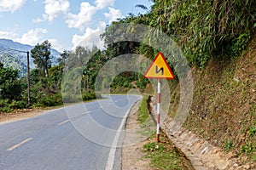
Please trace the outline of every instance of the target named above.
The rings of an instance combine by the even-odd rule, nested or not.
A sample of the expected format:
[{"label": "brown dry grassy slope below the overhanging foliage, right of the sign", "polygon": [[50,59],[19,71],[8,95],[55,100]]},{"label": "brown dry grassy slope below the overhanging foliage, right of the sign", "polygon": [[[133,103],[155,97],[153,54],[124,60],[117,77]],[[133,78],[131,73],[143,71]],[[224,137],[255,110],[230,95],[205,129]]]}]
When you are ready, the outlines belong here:
[{"label": "brown dry grassy slope below the overhanging foliage, right of the sign", "polygon": [[[193,105],[185,126],[212,144],[231,150],[242,161],[256,161],[256,37],[240,58],[194,68]],[[179,88],[172,82],[172,115]]]}]

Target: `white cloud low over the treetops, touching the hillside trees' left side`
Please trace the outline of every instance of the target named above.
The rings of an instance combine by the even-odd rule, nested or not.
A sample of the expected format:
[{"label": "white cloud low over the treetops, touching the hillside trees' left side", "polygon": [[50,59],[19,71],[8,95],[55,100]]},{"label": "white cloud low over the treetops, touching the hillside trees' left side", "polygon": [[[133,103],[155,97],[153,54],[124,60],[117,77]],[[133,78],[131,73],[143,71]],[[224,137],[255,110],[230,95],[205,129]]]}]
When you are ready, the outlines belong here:
[{"label": "white cloud low over the treetops, touching the hillside trees' left side", "polygon": [[106,23],[102,22],[100,23],[100,26],[93,30],[91,28],[86,28],[84,35],[79,36],[75,34],[73,36],[73,49],[78,46],[83,46],[86,48],[91,48],[93,45],[96,45],[97,48],[103,48],[104,47],[104,41],[100,38],[100,35],[105,30]]}]

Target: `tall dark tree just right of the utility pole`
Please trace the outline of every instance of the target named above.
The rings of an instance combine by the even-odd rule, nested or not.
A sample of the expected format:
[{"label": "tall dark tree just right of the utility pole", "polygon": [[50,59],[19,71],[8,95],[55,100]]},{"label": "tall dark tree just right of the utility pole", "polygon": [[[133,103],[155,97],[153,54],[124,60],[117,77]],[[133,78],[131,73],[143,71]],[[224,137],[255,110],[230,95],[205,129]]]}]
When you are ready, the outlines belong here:
[{"label": "tall dark tree just right of the utility pole", "polygon": [[51,44],[46,40],[42,44],[38,43],[31,50],[31,56],[34,59],[34,64],[38,66],[43,77],[49,77],[49,68],[51,67],[50,48]]}]

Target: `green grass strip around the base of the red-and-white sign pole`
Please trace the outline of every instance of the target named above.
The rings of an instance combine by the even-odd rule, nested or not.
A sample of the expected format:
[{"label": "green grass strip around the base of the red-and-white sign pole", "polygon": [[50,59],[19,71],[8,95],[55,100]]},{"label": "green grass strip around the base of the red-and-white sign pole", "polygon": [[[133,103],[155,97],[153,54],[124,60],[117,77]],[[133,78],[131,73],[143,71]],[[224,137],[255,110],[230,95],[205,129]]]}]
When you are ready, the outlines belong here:
[{"label": "green grass strip around the base of the red-and-white sign pole", "polygon": [[[160,135],[160,143],[155,141],[155,132],[148,128],[148,121],[151,122],[148,115],[148,95],[143,96],[137,121],[144,128],[143,133],[148,133],[148,143],[143,145],[143,151],[146,153],[146,157],[150,158],[153,169],[188,169],[188,162],[183,158],[183,154],[167,139],[164,133]],[[151,132],[147,132],[148,130]]]}]

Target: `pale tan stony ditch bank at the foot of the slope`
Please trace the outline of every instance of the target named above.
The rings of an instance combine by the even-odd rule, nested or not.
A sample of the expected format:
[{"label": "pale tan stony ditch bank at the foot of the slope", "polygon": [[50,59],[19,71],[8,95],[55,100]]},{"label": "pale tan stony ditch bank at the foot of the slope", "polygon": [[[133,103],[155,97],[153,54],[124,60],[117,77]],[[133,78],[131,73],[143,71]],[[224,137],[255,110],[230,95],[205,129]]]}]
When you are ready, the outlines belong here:
[{"label": "pale tan stony ditch bank at the foot of the slope", "polygon": [[[156,108],[154,98],[151,97],[151,114],[156,117]],[[162,111],[163,113],[163,111]],[[181,127],[173,133],[172,118],[166,116],[161,124],[161,129],[176,147],[183,151],[183,154],[189,159],[195,169],[218,169],[218,170],[248,170],[255,169],[256,163],[249,162],[242,164],[232,152],[224,152],[218,146],[211,144],[199,135]]]}]

